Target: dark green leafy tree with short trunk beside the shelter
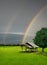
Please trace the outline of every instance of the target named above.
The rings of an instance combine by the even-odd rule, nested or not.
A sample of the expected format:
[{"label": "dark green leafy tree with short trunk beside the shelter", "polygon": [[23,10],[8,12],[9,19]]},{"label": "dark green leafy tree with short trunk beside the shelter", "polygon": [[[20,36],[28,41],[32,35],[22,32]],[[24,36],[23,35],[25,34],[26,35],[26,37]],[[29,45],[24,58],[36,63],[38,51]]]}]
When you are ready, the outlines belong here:
[{"label": "dark green leafy tree with short trunk beside the shelter", "polygon": [[36,45],[42,47],[42,52],[44,52],[44,48],[47,47],[47,28],[42,28],[38,31],[33,41]]}]

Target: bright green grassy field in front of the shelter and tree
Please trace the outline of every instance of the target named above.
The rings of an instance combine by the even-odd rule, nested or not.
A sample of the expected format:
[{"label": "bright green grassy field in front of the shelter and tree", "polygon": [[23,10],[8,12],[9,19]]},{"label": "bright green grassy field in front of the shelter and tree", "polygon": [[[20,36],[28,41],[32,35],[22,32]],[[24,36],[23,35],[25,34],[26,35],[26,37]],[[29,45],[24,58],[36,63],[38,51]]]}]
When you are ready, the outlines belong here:
[{"label": "bright green grassy field in front of the shelter and tree", "polygon": [[0,65],[46,65],[47,49],[45,53],[40,52],[21,52],[20,46],[1,46]]}]

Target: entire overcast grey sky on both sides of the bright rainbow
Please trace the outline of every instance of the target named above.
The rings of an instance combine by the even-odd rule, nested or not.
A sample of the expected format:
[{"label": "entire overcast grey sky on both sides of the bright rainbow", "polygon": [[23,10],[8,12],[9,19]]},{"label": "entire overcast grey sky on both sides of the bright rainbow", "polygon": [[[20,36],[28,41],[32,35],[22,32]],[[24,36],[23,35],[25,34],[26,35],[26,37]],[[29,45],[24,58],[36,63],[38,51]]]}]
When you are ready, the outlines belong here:
[{"label": "entire overcast grey sky on both sides of the bright rainbow", "polygon": [[[0,0],[0,33],[24,33],[32,18],[46,4],[47,0]],[[33,35],[42,26],[47,27],[47,7],[29,33]]]}]

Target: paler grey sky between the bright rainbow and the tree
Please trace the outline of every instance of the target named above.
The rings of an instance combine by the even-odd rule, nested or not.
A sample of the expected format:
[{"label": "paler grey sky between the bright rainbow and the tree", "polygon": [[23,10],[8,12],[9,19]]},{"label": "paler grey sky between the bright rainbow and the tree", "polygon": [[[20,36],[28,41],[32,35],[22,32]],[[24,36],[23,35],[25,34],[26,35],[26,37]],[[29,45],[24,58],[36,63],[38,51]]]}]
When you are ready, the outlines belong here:
[{"label": "paler grey sky between the bright rainbow and the tree", "polygon": [[41,10],[39,16],[33,21],[31,28],[29,30],[29,34],[36,35],[36,32],[41,28],[47,28],[47,5]]}]

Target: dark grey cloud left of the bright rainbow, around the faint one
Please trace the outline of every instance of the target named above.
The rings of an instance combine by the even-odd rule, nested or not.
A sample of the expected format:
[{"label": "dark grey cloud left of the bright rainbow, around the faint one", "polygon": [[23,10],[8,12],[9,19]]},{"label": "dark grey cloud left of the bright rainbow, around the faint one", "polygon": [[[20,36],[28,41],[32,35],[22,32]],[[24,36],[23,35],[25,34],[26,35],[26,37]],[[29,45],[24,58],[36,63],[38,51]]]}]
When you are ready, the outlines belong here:
[{"label": "dark grey cloud left of the bright rainbow, around the faint one", "polygon": [[24,32],[30,20],[46,4],[47,0],[0,0],[0,32],[6,32],[13,16],[15,20],[9,32]]}]

